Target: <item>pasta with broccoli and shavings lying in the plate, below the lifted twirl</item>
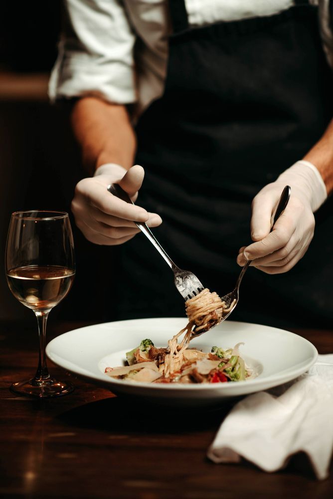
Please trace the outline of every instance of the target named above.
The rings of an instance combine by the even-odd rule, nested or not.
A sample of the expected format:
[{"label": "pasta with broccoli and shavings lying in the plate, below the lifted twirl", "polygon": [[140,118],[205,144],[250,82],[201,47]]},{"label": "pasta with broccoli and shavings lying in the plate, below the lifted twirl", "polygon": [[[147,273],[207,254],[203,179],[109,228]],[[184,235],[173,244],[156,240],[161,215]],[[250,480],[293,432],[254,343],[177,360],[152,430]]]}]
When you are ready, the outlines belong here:
[{"label": "pasta with broccoli and shavings lying in the plate, below the lifted twirl", "polygon": [[167,348],[157,348],[152,340],[144,339],[140,345],[127,352],[128,366],[107,367],[108,376],[126,381],[145,383],[225,383],[244,381],[250,370],[239,355],[238,343],[233,349],[223,350],[213,346],[211,352],[188,348],[188,331],[181,343],[178,337],[182,329],[171,340]]}]

